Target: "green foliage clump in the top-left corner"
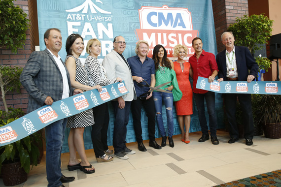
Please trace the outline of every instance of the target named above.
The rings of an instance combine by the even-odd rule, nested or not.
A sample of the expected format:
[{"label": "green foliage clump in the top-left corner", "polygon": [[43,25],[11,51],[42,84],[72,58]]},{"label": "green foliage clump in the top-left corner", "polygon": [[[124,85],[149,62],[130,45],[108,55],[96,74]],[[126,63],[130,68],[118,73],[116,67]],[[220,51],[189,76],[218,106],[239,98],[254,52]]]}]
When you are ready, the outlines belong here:
[{"label": "green foliage clump in the top-left corner", "polygon": [[0,47],[16,53],[25,44],[28,28],[27,14],[13,0],[0,0]]}]

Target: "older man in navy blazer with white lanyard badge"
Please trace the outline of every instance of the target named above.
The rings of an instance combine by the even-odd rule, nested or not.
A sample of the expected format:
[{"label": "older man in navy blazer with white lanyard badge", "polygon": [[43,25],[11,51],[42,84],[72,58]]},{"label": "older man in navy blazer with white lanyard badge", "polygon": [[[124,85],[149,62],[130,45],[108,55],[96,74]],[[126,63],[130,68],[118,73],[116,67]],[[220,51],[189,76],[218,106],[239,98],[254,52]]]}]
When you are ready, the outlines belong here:
[{"label": "older man in navy blazer with white lanyard badge", "polygon": [[[247,81],[254,80],[258,72],[258,64],[244,46],[234,46],[234,36],[232,32],[223,32],[221,41],[226,47],[225,50],[217,54],[216,62],[219,69],[218,82],[221,81]],[[239,140],[239,129],[236,123],[236,102],[239,99],[244,120],[244,138],[246,145],[253,144],[254,126],[251,107],[251,94],[224,94],[225,111],[230,125],[230,140],[234,143]]]}]

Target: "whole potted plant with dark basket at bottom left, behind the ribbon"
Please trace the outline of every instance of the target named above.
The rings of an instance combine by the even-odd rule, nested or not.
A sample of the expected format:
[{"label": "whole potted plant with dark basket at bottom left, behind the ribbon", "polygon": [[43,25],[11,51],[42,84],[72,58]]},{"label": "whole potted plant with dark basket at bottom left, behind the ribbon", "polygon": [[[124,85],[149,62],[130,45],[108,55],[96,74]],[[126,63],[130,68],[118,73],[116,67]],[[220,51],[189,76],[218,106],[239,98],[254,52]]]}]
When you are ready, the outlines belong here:
[{"label": "whole potted plant with dark basket at bottom left, behind the ribbon", "polygon": [[[8,108],[5,112],[0,110],[0,126],[7,125],[24,112],[21,108]],[[19,185],[27,180],[30,165],[37,165],[42,147],[41,134],[35,132],[14,143],[0,147],[0,174],[5,186]]]}]

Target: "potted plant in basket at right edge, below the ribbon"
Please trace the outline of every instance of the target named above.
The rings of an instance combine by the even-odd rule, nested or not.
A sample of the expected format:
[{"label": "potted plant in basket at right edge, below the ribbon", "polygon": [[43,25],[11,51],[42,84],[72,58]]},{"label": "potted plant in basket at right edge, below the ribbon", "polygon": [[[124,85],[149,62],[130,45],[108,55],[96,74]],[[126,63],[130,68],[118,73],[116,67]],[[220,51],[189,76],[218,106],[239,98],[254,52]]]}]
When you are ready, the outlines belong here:
[{"label": "potted plant in basket at right edge, below the ribbon", "polygon": [[281,138],[281,95],[261,95],[258,110],[266,138]]}]

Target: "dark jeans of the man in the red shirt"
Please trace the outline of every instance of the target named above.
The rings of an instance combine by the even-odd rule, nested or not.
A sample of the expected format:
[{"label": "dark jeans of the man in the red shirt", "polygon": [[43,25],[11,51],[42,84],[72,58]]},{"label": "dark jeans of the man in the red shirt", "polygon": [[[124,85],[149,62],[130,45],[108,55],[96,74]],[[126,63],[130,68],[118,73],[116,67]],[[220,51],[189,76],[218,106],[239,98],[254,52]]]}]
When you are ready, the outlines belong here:
[{"label": "dark jeans of the man in the red shirt", "polygon": [[205,117],[205,105],[204,98],[207,104],[207,110],[209,114],[209,126],[211,136],[216,136],[216,114],[214,108],[214,92],[207,92],[206,94],[195,94],[193,93],[195,103],[198,110],[198,118],[202,130],[202,134],[208,134],[208,126]]}]

